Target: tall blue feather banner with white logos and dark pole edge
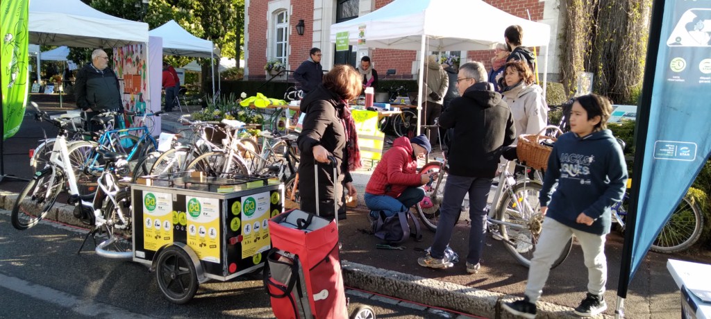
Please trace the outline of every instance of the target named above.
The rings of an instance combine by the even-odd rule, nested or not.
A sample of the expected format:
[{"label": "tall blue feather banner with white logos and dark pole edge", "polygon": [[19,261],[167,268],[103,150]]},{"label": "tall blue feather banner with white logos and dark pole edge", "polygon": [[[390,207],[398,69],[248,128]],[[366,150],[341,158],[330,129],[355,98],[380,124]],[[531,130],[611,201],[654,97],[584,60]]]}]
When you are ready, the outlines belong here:
[{"label": "tall blue feather banner with white logos and dark pole edge", "polygon": [[632,191],[637,200],[628,216],[624,292],[618,292],[623,298],[711,151],[711,0],[654,1],[649,39],[638,109]]}]

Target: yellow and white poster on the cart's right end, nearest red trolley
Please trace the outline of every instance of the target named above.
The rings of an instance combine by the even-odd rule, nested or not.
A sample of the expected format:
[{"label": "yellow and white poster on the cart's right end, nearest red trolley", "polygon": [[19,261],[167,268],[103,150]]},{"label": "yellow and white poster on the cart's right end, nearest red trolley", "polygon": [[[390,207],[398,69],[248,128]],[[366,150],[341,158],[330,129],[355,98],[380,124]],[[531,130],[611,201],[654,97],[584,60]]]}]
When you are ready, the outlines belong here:
[{"label": "yellow and white poster on the cart's right end, nearest red trolley", "polygon": [[242,259],[269,249],[269,192],[248,195],[242,202]]}]

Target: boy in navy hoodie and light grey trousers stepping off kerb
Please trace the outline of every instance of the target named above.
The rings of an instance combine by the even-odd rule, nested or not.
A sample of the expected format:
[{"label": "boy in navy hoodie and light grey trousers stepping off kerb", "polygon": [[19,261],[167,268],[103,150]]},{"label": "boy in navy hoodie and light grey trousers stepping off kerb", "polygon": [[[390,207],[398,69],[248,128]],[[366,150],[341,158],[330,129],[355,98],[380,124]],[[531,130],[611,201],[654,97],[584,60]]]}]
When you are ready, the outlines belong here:
[{"label": "boy in navy hoodie and light grey trousers stepping off kerb", "polygon": [[570,132],[560,136],[548,158],[539,195],[545,220],[528,270],[525,298],[504,303],[509,313],[535,318],[535,303],[550,266],[572,235],[580,243],[588,271],[587,296],[574,312],[590,317],[607,309],[605,235],[610,232],[610,207],[622,200],[627,182],[622,149],[606,129],[611,111],[609,100],[597,94],[575,100]]}]

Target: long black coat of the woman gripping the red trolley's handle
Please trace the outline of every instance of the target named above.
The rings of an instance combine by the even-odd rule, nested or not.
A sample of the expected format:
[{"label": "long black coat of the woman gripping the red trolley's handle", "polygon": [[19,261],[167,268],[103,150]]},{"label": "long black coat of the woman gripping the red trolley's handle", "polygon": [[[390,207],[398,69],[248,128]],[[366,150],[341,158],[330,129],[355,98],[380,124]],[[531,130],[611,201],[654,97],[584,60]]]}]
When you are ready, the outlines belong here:
[{"label": "long black coat of the woman gripping the red trolley's handle", "polygon": [[333,218],[333,194],[338,194],[339,219],[346,218],[343,205],[343,183],[353,181],[348,173],[348,151],[346,130],[343,129],[343,107],[338,95],[329,92],[323,85],[301,100],[301,112],[306,113],[304,127],[296,144],[301,151],[299,161],[299,194],[301,210],[316,213],[316,185],[314,183],[314,152],[316,145],[326,148],[336,158],[337,185],[334,190],[333,168],[319,165],[319,209],[322,217]]}]

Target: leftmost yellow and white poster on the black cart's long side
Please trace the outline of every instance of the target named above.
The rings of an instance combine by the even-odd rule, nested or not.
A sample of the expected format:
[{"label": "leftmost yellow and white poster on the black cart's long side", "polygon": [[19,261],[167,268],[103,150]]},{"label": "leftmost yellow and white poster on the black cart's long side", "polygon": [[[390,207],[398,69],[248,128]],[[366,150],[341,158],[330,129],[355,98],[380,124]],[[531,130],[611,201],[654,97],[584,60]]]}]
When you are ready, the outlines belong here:
[{"label": "leftmost yellow and white poster on the black cart's long side", "polygon": [[173,200],[170,194],[143,192],[143,248],[158,251],[173,242]]}]

